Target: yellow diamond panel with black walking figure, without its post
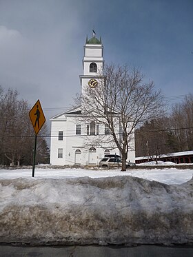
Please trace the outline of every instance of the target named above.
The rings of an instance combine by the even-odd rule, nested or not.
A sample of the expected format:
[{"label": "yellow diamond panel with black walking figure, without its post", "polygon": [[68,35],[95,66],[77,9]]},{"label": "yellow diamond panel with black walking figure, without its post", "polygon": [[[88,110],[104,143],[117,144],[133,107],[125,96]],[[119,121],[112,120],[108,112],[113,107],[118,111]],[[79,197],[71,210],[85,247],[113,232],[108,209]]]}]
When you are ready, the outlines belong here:
[{"label": "yellow diamond panel with black walking figure, without its post", "polygon": [[38,100],[32,109],[29,112],[30,120],[32,121],[32,125],[34,127],[35,134],[39,133],[39,130],[41,130],[41,127],[45,123],[45,116],[43,114],[43,110],[41,108],[41,103]]}]

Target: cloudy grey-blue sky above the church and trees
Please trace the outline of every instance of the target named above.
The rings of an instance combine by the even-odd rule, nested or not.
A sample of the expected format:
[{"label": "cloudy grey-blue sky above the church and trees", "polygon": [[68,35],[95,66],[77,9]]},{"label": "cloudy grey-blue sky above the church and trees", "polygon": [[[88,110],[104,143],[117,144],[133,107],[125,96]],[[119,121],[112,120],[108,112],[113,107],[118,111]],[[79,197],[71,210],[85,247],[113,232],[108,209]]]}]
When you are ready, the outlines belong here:
[{"label": "cloudy grey-blue sky above the church and trees", "polygon": [[0,85],[40,99],[47,119],[63,112],[93,28],[105,63],[141,68],[165,96],[193,93],[192,0],[0,0]]}]

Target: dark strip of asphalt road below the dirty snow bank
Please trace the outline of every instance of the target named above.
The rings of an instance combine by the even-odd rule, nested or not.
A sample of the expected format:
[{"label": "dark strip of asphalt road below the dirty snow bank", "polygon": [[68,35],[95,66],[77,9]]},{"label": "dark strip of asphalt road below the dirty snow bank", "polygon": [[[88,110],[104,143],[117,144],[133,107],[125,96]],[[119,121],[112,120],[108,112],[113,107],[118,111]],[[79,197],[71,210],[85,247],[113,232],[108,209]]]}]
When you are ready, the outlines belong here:
[{"label": "dark strip of asphalt road below the dirty snow bank", "polygon": [[137,247],[116,246],[70,246],[70,247],[18,247],[0,245],[1,257],[192,257],[193,247],[161,247],[141,245]]}]

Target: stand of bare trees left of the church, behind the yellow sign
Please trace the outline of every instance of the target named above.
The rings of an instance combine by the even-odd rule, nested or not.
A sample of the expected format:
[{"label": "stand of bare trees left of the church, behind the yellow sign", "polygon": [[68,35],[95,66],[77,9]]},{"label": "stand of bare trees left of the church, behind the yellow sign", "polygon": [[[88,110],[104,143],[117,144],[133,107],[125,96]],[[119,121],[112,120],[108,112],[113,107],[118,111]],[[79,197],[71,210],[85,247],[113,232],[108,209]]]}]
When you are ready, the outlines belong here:
[{"label": "stand of bare trees left of the church, behind the yellow sign", "polygon": [[[27,101],[18,98],[17,90],[9,89],[3,92],[0,88],[0,163],[2,165],[32,164],[32,150],[34,147],[34,130],[30,123]],[[46,129],[44,129],[45,131]],[[41,133],[42,134],[42,133]],[[47,154],[45,138],[39,136],[39,152]],[[43,143],[42,143],[43,142]],[[41,158],[40,154],[40,159]],[[48,159],[48,157],[47,157]]]}]

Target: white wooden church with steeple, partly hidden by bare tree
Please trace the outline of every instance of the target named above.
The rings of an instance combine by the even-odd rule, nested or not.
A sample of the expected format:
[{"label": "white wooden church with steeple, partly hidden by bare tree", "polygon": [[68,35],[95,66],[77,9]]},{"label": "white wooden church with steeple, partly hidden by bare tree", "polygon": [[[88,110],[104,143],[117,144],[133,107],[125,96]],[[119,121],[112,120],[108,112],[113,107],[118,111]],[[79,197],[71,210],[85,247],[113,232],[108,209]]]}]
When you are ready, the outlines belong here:
[{"label": "white wooden church with steeple, partly hidden by bare tree", "polygon": [[[101,39],[86,39],[83,56],[83,75],[80,76],[81,93],[85,87],[100,86],[103,75],[103,45]],[[100,78],[99,78],[100,77]],[[103,122],[84,120],[81,106],[58,114],[51,121],[50,164],[52,165],[99,165],[105,154],[121,155],[114,141],[108,140],[110,130]],[[119,125],[116,127],[120,132]],[[135,161],[134,137],[130,142],[128,161]]]}]

